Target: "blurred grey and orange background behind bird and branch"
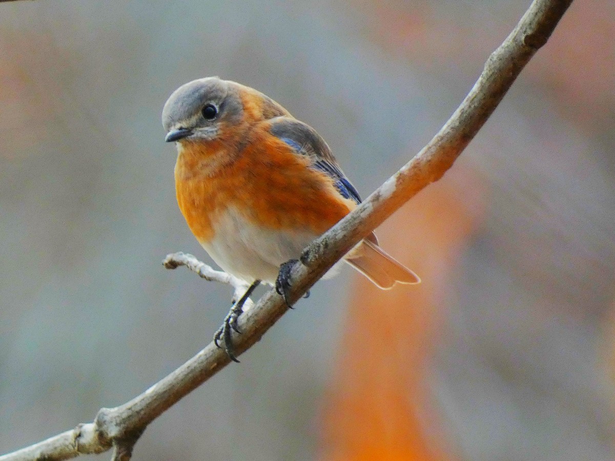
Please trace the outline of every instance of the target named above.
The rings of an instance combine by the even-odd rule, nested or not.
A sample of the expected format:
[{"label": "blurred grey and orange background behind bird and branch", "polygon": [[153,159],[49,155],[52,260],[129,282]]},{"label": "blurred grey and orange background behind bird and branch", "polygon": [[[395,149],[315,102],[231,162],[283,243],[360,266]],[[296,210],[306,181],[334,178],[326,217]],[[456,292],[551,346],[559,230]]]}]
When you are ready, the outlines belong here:
[{"label": "blurred grey and orange background behind bird and branch", "polygon": [[[0,3],[0,452],[143,392],[228,310],[228,286],[161,264],[210,262],[175,203],[175,88],[263,91],[367,196],[528,4]],[[423,284],[319,283],[133,459],[614,459],[614,33],[613,2],[574,2],[452,170],[381,226]]]}]

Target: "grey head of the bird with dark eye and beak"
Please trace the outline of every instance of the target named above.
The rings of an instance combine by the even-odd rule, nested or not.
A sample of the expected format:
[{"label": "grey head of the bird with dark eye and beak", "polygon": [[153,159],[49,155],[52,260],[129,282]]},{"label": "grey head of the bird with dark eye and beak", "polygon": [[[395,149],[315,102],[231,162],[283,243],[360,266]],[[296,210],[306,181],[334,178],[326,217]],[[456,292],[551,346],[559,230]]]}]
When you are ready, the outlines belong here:
[{"label": "grey head of the bird with dark eye and beak", "polygon": [[207,77],[181,85],[162,109],[165,141],[213,140],[221,124],[235,125],[242,119],[239,84]]}]

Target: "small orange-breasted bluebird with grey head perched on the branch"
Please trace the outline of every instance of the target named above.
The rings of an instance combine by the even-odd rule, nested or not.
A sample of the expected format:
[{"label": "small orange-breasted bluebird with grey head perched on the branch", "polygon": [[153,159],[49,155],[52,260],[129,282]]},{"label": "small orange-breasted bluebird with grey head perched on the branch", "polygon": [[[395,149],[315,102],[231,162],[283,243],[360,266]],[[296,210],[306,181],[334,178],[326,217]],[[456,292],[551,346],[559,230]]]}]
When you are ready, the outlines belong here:
[{"label": "small orange-breasted bluebird with grey head perched on the branch", "polygon": [[[272,285],[288,304],[293,264],[361,197],[314,128],[237,82],[205,77],[181,85],[164,104],[162,126],[177,146],[175,192],[189,229],[221,269],[249,285],[214,336],[238,361],[231,329],[240,333],[250,294]],[[373,232],[344,261],[383,290],[420,282]]]}]

